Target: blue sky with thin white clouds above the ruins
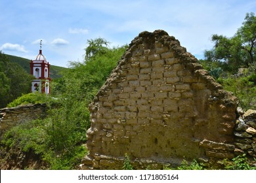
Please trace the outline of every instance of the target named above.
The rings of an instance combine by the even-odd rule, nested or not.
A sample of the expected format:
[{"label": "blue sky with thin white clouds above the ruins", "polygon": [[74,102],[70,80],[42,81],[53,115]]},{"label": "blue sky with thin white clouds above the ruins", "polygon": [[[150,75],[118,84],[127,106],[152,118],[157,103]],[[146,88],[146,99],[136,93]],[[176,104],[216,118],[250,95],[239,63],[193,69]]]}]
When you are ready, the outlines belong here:
[{"label": "blue sky with thin white clouds above the ruins", "polygon": [[254,0],[1,0],[0,50],[34,59],[42,50],[51,65],[82,61],[88,39],[129,44],[142,31],[163,29],[196,58],[212,48],[211,35],[232,37]]}]

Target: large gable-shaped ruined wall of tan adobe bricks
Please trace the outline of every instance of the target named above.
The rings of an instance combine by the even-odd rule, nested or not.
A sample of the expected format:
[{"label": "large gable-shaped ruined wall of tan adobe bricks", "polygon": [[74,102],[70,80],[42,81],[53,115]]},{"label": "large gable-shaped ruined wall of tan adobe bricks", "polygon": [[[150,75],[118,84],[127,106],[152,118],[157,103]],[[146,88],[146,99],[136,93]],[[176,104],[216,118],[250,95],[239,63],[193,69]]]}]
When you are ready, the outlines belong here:
[{"label": "large gable-shaped ruined wall of tan adobe bricks", "polygon": [[233,158],[236,104],[174,37],[142,32],[90,105],[83,169]]}]

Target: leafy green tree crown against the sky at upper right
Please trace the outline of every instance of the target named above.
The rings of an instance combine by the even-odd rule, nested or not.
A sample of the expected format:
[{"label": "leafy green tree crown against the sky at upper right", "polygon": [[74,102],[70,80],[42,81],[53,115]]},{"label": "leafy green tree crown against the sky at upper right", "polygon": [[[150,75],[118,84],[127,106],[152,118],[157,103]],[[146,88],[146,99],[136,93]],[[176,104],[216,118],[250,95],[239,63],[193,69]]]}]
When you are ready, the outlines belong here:
[{"label": "leafy green tree crown against the sky at upper right", "polygon": [[256,17],[246,14],[242,27],[233,37],[213,35],[215,46],[205,51],[207,61],[218,63],[224,71],[236,73],[240,67],[249,67],[256,59]]}]

